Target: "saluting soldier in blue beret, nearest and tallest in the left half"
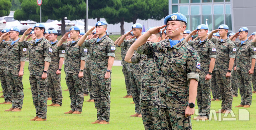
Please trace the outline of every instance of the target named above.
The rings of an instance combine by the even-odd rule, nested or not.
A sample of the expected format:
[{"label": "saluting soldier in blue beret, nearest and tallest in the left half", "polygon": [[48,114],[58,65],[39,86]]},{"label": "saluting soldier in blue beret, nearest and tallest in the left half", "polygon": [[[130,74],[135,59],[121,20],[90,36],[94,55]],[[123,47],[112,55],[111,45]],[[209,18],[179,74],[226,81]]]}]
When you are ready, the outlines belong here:
[{"label": "saluting soldier in blue beret, nearest and tallest in the left half", "polygon": [[[97,39],[85,40],[96,28]],[[109,124],[111,68],[115,57],[114,42],[106,36],[107,23],[98,21],[95,27],[88,30],[79,40],[78,45],[90,47],[92,62],[91,84],[94,89],[94,103],[97,109],[97,120],[92,124]]]}]

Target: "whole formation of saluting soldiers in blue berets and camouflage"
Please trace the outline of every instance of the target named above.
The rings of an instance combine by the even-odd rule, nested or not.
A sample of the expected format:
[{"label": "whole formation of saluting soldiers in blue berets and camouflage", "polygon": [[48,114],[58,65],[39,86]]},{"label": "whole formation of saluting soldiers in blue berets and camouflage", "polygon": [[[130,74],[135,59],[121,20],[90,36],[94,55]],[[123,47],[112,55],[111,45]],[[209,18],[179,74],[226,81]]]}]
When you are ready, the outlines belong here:
[{"label": "whole formation of saluting soldiers in blue berets and camouflage", "polygon": [[150,27],[144,34],[142,25],[135,23],[116,41],[108,38],[105,21],[98,21],[86,33],[73,26],[59,41],[57,30],[46,30],[42,23],[36,23],[34,31],[27,29],[21,38],[17,27],[4,29],[0,34],[0,80],[5,102],[0,104],[12,104],[5,111],[21,111],[28,55],[36,108],[31,120],[47,119],[49,98],[52,104],[48,106],[62,106],[64,63],[71,100],[65,114],[81,114],[84,96],[90,95],[87,101],[94,102],[97,109],[92,124],[109,124],[111,68],[116,46],[120,46],[127,90],[124,98],[133,98],[135,114],[130,116],[142,117],[146,130],[192,129],[190,116],[196,100],[199,116],[194,119],[209,119],[211,101],[222,101],[221,111],[216,113],[230,113],[238,88],[241,103],[236,107],[250,107],[252,93],[256,93],[256,32],[247,37],[248,29],[243,27],[228,35],[225,24],[212,32],[201,24],[191,32],[186,25],[184,15],[173,13],[165,17],[163,26]]}]

